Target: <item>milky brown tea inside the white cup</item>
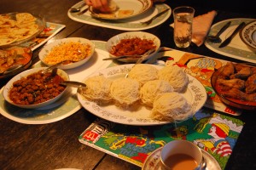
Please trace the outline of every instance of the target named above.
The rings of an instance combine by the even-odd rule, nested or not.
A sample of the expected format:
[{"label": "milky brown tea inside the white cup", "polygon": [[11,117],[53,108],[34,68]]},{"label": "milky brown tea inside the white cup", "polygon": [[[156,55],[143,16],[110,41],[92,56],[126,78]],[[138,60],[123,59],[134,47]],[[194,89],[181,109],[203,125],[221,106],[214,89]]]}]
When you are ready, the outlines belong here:
[{"label": "milky brown tea inside the white cup", "polygon": [[192,156],[175,154],[166,158],[166,166],[172,170],[194,170],[198,164]]}]

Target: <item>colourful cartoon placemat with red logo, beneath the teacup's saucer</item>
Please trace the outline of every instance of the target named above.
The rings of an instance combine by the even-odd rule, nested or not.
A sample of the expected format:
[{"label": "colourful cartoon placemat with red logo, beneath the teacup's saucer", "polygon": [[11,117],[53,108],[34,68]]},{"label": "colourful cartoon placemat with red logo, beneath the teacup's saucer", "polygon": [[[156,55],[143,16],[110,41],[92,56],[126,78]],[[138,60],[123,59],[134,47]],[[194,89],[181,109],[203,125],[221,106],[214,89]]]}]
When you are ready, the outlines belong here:
[{"label": "colourful cartoon placemat with red logo, beneath the teacup's saucer", "polygon": [[176,125],[134,127],[97,119],[81,133],[79,141],[142,167],[147,157],[166,143],[189,140],[206,150],[224,169],[243,124],[236,118],[208,109]]}]

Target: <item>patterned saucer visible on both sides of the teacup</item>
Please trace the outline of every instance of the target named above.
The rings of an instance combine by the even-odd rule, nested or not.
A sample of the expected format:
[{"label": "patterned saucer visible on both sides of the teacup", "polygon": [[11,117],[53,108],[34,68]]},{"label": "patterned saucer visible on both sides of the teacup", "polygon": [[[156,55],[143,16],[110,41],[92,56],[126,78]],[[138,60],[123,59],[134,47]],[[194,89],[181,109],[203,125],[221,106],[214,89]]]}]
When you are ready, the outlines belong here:
[{"label": "patterned saucer visible on both sides of the teacup", "polygon": [[[161,170],[160,167],[160,152],[162,147],[154,150],[144,161],[143,163],[143,170]],[[218,161],[214,159],[206,150],[201,150],[204,158],[207,161],[207,170],[214,169],[214,170],[221,170],[221,167],[218,165]]]}]

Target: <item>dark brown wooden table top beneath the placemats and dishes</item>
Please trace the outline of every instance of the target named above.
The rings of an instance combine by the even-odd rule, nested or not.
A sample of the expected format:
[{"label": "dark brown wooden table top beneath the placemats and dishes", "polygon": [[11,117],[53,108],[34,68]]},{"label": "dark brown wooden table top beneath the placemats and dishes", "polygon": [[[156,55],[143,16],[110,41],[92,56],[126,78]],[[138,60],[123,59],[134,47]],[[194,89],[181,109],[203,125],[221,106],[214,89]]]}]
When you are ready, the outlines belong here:
[{"label": "dark brown wooden table top beneath the placemats and dishes", "polygon": [[[212,2],[192,3],[186,1],[167,0],[171,8],[179,5],[195,7],[195,15],[204,14],[212,9],[219,9],[214,22],[230,18],[256,18],[255,8],[251,3],[244,3],[243,7],[232,8]],[[176,2],[177,1],[177,2]],[[44,16],[46,21],[66,25],[66,28],[53,39],[64,37],[84,37],[91,40],[107,41],[123,31],[117,31],[98,26],[90,26],[73,21],[67,17],[67,10],[79,0],[1,0],[0,13],[29,12]],[[203,7],[201,7],[203,6]],[[252,10],[251,10],[252,9]],[[160,37],[162,46],[175,48],[172,40],[172,16],[161,26],[147,30]],[[230,59],[216,54],[204,45],[200,48],[193,46],[187,49],[194,54],[203,54],[218,59]],[[38,52],[33,53],[33,63],[38,61]],[[237,59],[231,61],[239,62]],[[2,88],[8,80],[1,80]],[[256,123],[255,113],[246,111],[236,118],[245,122],[241,135],[236,142],[226,169],[255,169],[256,168]],[[79,143],[79,134],[96,119],[84,109],[80,109],[72,116],[59,122],[44,125],[27,125],[14,122],[0,115],[0,169],[55,169],[73,167],[79,169],[140,169],[127,161],[109,156],[100,150]]]}]

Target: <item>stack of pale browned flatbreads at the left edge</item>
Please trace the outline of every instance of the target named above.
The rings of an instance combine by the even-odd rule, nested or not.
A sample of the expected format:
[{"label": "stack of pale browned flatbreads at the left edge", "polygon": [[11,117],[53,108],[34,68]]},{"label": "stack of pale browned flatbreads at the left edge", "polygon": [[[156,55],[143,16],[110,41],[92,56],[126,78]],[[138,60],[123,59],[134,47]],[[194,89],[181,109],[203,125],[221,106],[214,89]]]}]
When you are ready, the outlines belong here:
[{"label": "stack of pale browned flatbreads at the left edge", "polygon": [[38,32],[36,18],[29,13],[0,15],[0,46],[25,40]]}]

